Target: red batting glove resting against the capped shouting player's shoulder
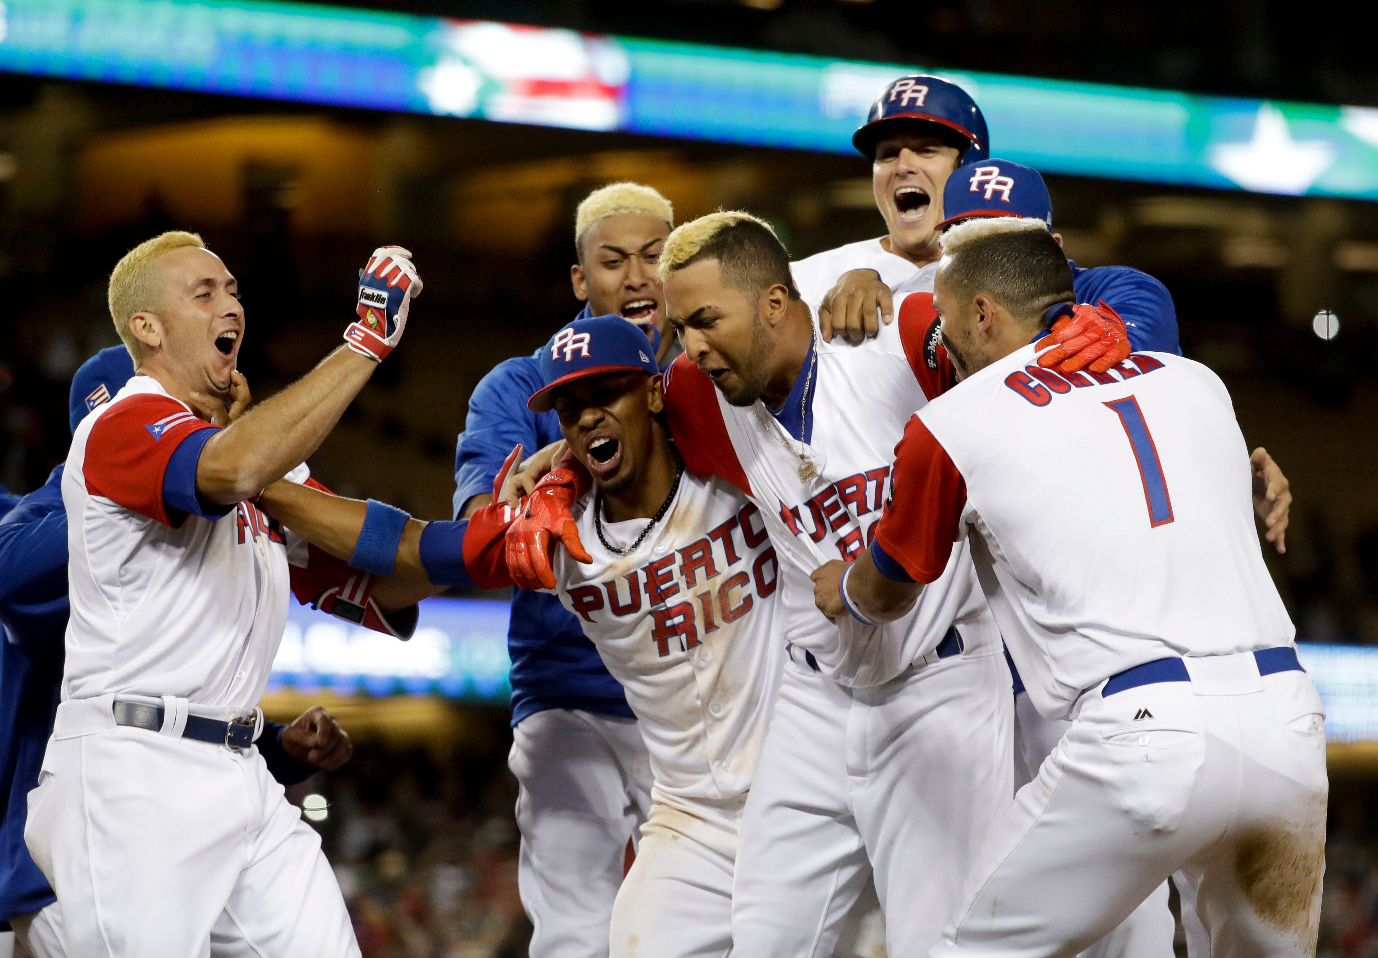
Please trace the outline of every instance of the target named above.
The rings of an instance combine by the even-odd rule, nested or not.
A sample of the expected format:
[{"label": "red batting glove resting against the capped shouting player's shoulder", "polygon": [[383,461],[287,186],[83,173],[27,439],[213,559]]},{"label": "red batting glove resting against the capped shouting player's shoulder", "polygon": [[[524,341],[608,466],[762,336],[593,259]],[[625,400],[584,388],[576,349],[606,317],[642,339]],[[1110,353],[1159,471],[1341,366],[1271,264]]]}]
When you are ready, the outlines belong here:
[{"label": "red batting glove resting against the capped shouting player's shoulder", "polygon": [[521,516],[507,528],[507,572],[522,589],[554,589],[551,539],[579,562],[593,562],[575,524],[573,507],[588,491],[590,477],[572,455],[546,473],[522,502]]}]

